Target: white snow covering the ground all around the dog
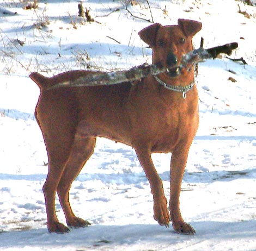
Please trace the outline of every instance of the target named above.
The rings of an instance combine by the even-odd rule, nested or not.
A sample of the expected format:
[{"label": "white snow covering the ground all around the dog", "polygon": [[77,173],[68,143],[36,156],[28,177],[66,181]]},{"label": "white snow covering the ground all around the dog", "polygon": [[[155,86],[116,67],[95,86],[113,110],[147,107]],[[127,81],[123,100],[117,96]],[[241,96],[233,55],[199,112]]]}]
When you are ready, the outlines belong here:
[{"label": "white snow covering the ground all around the dog", "polygon": [[[69,234],[47,232],[47,155],[33,115],[39,89],[28,75],[124,70],[150,62],[151,51],[137,35],[150,23],[121,10],[125,2],[84,1],[97,21],[87,23],[77,17],[77,1],[40,1],[35,10],[22,9],[28,1],[0,1],[1,250],[256,250],[256,7],[233,0],[149,1],[154,22],[201,21],[196,47],[201,36],[206,48],[236,41],[231,58],[248,62],[199,64],[200,125],[180,197],[182,215],[197,234],[182,236],[157,225],[134,150],[106,139],[97,139],[70,191],[75,214],[92,225]],[[147,2],[135,2],[128,5],[132,14],[151,20]],[[238,13],[238,4],[250,18]],[[36,28],[39,21],[45,27]],[[154,154],[153,160],[168,198],[170,154]],[[58,200],[56,209],[65,223]]]}]

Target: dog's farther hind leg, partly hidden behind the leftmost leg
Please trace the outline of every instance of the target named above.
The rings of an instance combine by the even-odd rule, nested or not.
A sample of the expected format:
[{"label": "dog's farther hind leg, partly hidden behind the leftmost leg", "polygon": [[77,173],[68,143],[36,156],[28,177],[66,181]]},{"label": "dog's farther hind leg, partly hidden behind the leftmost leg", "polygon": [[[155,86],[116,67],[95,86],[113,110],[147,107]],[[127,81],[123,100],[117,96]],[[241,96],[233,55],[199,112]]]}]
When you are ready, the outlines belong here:
[{"label": "dog's farther hind leg, partly hidden behind the leftmost leg", "polygon": [[69,202],[69,190],[82,167],[93,154],[95,143],[95,137],[82,137],[76,134],[69,159],[66,162],[65,170],[58,184],[57,192],[59,200],[69,227],[82,228],[90,225],[89,222],[75,216]]}]

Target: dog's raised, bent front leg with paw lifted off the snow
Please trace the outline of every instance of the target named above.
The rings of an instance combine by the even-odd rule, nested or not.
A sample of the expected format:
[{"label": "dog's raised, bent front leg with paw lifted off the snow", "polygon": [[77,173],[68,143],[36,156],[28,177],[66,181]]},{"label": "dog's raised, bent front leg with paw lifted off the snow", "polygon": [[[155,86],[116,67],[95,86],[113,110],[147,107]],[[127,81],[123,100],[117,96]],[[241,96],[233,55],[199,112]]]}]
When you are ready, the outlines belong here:
[{"label": "dog's raised, bent front leg with paw lifted off the snow", "polygon": [[151,153],[147,148],[135,149],[139,162],[149,180],[151,193],[154,199],[154,219],[160,224],[169,227],[170,215],[167,208],[167,200],[164,196],[162,180],[156,172],[151,159]]}]

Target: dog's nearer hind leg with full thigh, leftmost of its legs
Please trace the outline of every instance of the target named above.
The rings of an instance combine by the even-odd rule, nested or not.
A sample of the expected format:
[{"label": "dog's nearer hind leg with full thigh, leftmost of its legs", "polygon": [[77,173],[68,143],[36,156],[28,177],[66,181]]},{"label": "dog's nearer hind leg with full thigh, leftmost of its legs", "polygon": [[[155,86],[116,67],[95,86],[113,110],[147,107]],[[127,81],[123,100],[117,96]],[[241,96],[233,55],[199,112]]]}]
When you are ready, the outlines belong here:
[{"label": "dog's nearer hind leg with full thigh, leftmost of its legs", "polygon": [[58,221],[55,198],[76,134],[77,113],[76,109],[70,109],[74,106],[74,102],[66,96],[65,92],[46,92],[41,94],[35,110],[35,117],[44,136],[49,161],[43,191],[47,227],[50,233],[70,231]]}]

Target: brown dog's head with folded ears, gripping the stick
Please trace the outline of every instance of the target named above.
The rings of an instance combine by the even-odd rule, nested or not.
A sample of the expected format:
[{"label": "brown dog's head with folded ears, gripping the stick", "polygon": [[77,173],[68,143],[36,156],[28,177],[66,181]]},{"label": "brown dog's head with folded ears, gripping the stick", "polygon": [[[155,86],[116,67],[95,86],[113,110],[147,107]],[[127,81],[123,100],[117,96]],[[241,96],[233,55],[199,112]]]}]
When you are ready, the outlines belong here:
[{"label": "brown dog's head with folded ears, gripping the stick", "polygon": [[[155,23],[139,32],[141,39],[153,50],[153,64],[161,62],[168,68],[178,66],[183,54],[192,51],[192,38],[202,28],[202,23],[179,19],[178,25],[162,26]],[[179,68],[167,70],[170,77],[179,75]]]}]

